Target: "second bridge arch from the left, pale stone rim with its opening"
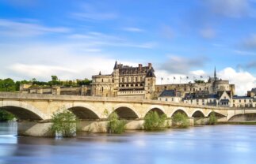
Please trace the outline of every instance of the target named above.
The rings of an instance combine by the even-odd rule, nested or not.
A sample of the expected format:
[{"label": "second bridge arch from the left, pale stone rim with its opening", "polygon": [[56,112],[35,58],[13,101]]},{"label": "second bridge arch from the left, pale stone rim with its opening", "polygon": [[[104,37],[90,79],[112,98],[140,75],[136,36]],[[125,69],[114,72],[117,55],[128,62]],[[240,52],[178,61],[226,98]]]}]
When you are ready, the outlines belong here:
[{"label": "second bridge arch from the left, pale stone rim with its opening", "polygon": [[63,108],[70,110],[78,119],[96,120],[101,118],[94,106],[86,103],[71,103],[63,106]]}]

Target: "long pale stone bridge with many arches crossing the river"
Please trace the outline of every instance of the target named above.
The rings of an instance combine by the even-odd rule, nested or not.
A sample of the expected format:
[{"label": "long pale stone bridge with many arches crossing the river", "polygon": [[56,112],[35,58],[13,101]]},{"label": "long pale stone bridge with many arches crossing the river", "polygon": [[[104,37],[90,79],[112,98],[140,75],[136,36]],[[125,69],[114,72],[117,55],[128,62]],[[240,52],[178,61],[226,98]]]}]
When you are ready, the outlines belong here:
[{"label": "long pale stone bridge with many arches crossing the river", "polygon": [[84,131],[104,131],[105,120],[113,112],[128,120],[127,129],[142,129],[143,117],[149,111],[166,114],[169,118],[181,112],[191,120],[193,117],[208,117],[214,111],[219,121],[229,121],[243,114],[256,114],[256,108],[195,106],[150,99],[0,92],[0,110],[9,111],[19,119],[18,132],[23,135],[45,136],[52,114],[61,109],[73,112],[81,120]]}]

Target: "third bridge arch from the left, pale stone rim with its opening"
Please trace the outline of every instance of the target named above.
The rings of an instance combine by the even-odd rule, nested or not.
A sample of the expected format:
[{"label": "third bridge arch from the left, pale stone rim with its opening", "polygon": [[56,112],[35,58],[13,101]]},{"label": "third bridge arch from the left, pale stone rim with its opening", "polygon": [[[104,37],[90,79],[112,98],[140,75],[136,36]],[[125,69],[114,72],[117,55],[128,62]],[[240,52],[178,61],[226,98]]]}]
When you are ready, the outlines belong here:
[{"label": "third bridge arch from the left, pale stone rim with its opening", "polygon": [[129,104],[118,104],[117,106],[115,106],[113,108],[112,113],[113,112],[116,112],[117,115],[120,118],[123,118],[123,119],[136,119],[136,118],[139,118],[139,114],[136,112],[136,109],[134,109]]}]

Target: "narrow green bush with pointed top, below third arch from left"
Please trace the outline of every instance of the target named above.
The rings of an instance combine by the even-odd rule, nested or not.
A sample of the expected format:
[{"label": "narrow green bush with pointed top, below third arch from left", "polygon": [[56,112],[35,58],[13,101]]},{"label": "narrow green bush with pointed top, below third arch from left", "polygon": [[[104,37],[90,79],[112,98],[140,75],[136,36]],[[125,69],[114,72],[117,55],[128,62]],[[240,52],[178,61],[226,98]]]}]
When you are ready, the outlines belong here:
[{"label": "narrow green bush with pointed top, below third arch from left", "polygon": [[119,120],[118,115],[114,112],[109,116],[109,122],[107,124],[107,129],[109,133],[123,133],[125,131],[125,121]]}]

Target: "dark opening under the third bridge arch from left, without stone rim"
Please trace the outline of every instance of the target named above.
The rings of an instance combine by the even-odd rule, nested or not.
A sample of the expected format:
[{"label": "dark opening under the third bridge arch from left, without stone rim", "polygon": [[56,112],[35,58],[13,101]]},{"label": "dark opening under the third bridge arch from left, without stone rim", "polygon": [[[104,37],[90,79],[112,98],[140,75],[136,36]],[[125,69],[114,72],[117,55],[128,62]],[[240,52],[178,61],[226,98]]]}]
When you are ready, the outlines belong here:
[{"label": "dark opening under the third bridge arch from left, without stone rim", "polygon": [[125,106],[119,107],[113,112],[116,112],[120,118],[126,120],[139,118],[135,111]]}]

